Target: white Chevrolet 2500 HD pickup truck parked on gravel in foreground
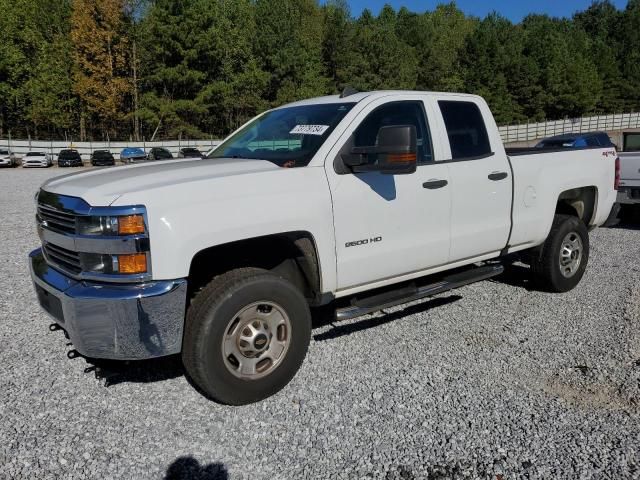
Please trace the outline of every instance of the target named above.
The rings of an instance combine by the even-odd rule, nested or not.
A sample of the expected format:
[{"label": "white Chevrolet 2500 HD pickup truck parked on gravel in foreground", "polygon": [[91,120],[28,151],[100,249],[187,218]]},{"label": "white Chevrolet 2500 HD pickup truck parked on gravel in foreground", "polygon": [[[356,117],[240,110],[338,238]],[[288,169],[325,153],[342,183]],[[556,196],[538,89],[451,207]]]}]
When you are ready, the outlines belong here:
[{"label": "white Chevrolet 2500 HD pickup truck parked on gravel in foreground", "polygon": [[542,288],[575,287],[617,166],[611,148],[509,156],[477,96],[314,98],[206,159],[46,182],[32,278],[79,354],[181,353],[206,395],[245,404],[295,375],[310,307],[355,318],[498,275],[515,252]]}]

